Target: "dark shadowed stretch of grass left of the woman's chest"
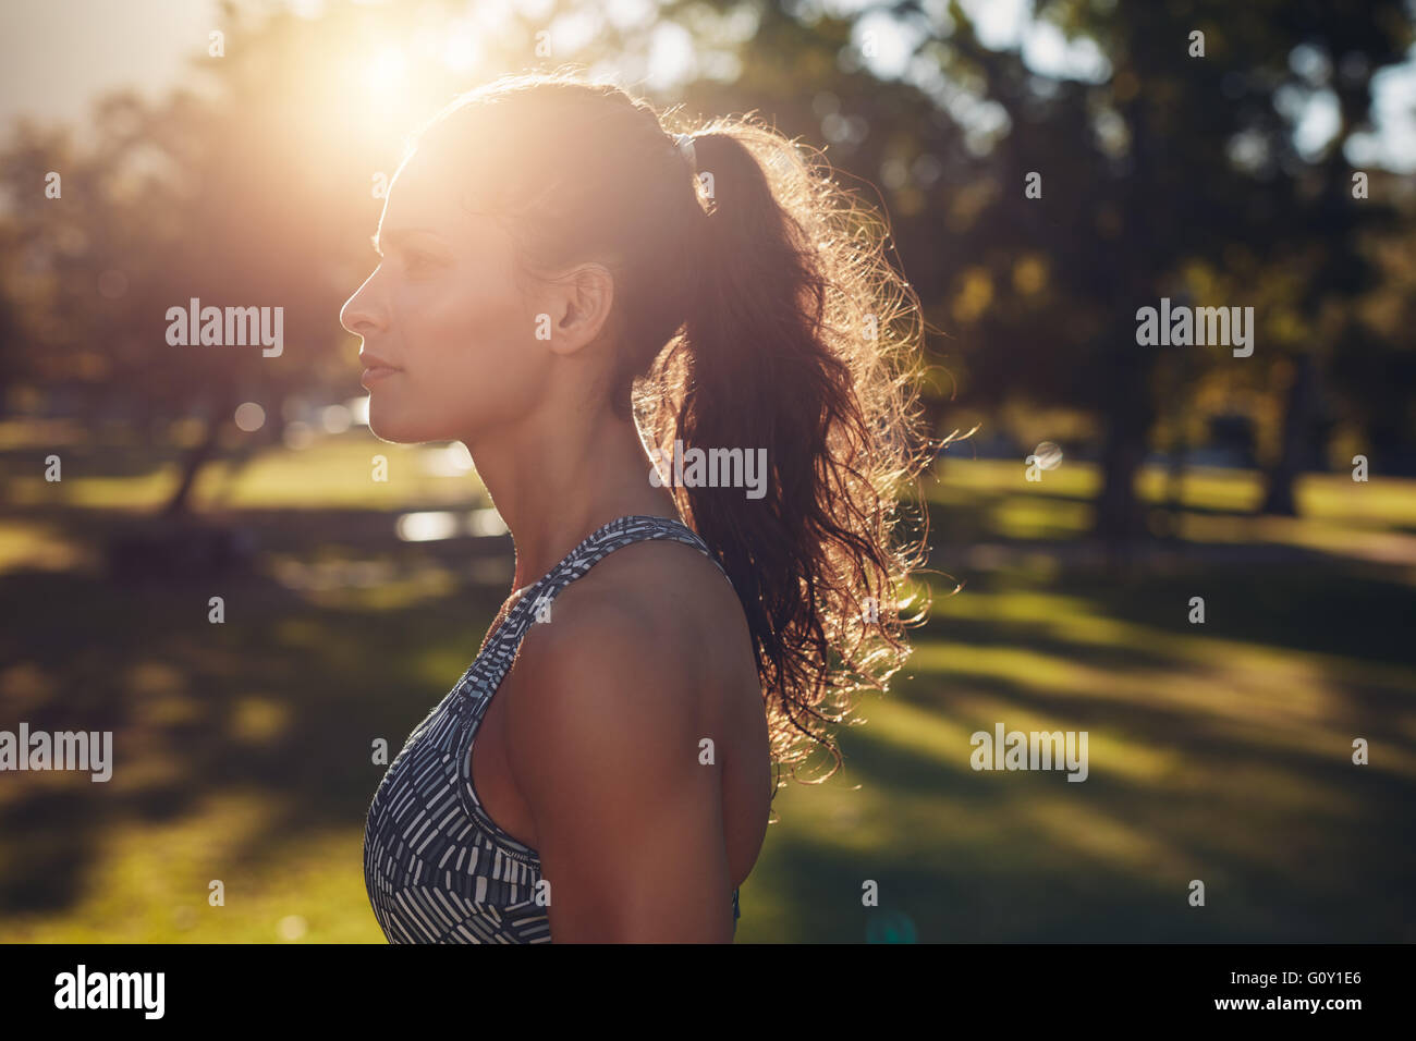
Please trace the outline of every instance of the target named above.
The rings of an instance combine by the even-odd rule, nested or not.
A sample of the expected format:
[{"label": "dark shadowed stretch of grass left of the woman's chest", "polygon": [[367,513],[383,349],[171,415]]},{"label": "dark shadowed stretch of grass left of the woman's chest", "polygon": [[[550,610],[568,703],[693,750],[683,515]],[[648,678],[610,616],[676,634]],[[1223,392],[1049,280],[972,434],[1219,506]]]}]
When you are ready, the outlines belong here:
[{"label": "dark shadowed stretch of grass left of the woman's chest", "polygon": [[[252,792],[273,810],[242,858],[361,826],[387,769],[371,762],[372,741],[396,755],[476,657],[504,595],[460,581],[371,610],[314,605],[262,575],[119,588],[4,574],[0,612],[16,623],[0,636],[0,674],[28,694],[0,728],[110,729],[115,765],[108,783],[30,785],[0,804],[0,916],[61,912],[108,833],[184,817],[219,793]],[[224,598],[222,625],[208,620],[211,596]],[[143,780],[127,783],[135,772]]]}]

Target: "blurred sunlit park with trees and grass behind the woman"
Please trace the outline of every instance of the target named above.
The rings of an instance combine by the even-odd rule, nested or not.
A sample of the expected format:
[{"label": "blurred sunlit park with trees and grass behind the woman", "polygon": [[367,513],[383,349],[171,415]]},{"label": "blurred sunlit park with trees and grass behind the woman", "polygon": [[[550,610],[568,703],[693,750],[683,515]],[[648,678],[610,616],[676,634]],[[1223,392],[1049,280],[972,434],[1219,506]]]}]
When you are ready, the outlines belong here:
[{"label": "blurred sunlit park with trees and grass behind the woman", "polygon": [[[382,942],[371,742],[476,656],[513,550],[462,445],[370,435],[337,314],[405,135],[566,62],[824,149],[969,433],[923,480],[930,622],[779,795],[738,940],[1416,939],[1413,20],[7,3],[0,729],[116,765],[0,773],[0,940]],[[191,297],[282,306],[283,353],[170,346]],[[1138,346],[1161,297],[1252,306],[1252,355]],[[1087,780],[974,772],[997,722],[1087,731]]]}]

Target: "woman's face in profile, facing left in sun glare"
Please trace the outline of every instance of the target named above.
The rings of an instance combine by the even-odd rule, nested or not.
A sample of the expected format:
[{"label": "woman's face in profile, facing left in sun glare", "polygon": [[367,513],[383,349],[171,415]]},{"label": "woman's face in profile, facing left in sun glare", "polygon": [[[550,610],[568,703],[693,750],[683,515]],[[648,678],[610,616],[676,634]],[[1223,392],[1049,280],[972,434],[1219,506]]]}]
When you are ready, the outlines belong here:
[{"label": "woman's face in profile, facing left in sun glare", "polygon": [[382,440],[473,440],[530,412],[551,361],[532,302],[513,280],[511,241],[459,205],[456,173],[419,153],[395,174],[378,228],[382,259],[340,310],[362,339],[368,426]]}]

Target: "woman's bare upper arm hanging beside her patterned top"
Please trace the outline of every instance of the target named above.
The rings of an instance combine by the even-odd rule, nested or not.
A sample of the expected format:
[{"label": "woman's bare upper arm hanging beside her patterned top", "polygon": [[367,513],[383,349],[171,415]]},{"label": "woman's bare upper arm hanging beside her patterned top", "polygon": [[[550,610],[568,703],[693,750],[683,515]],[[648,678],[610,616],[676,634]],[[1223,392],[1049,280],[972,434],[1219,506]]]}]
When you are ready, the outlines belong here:
[{"label": "woman's bare upper arm hanging beside her patterned top", "polygon": [[[650,603],[559,599],[528,633],[507,708],[513,779],[535,820],[551,935],[732,942],[722,748],[701,680]],[[700,762],[714,738],[716,765]]]}]

